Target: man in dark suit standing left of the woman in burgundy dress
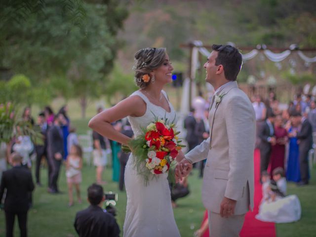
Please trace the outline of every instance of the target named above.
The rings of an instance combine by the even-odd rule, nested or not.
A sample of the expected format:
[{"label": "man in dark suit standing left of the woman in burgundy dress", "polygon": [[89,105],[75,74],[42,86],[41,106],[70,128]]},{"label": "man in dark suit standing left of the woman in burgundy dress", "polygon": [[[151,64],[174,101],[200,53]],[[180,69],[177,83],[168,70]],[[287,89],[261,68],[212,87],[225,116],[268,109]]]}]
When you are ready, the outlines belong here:
[{"label": "man in dark suit standing left of the woman in burgundy dress", "polygon": [[259,127],[259,150],[260,150],[260,173],[268,169],[270,156],[271,156],[271,145],[276,144],[276,138],[274,137],[274,118],[275,115],[270,112],[267,113],[267,119],[264,124]]}]

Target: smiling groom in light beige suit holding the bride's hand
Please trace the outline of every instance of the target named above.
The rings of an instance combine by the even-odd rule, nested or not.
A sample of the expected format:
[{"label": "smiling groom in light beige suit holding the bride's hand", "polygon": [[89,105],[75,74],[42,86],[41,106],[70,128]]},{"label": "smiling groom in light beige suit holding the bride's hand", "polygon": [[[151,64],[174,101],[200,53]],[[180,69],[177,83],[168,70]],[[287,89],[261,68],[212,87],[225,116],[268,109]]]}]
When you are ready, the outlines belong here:
[{"label": "smiling groom in light beige suit holding the bride's hand", "polygon": [[[212,45],[204,64],[206,82],[215,94],[209,113],[210,137],[176,167],[181,180],[192,163],[207,158],[202,187],[211,237],[238,237],[245,213],[253,208],[255,113],[247,95],[237,86],[242,57],[230,45]],[[178,158],[178,160],[180,160]]]}]

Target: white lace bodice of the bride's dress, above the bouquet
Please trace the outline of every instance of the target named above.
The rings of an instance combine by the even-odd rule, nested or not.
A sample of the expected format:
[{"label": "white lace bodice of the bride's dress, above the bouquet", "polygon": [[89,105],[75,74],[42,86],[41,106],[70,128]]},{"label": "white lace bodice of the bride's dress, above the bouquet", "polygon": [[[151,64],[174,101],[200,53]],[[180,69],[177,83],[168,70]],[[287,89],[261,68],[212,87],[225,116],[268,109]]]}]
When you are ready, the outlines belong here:
[{"label": "white lace bodice of the bride's dress, above the bouquet", "polygon": [[162,107],[153,104],[152,102],[150,102],[150,100],[147,98],[146,95],[144,95],[142,92],[140,92],[139,90],[135,91],[133,94],[131,94],[130,96],[133,95],[137,95],[139,97],[141,97],[146,105],[146,112],[143,116],[141,117],[131,117],[128,116],[127,119],[132,127],[132,130],[135,134],[135,137],[138,136],[139,134],[141,134],[142,130],[141,128],[144,127],[146,128],[148,124],[150,124],[151,122],[155,121],[155,117],[158,119],[168,119],[168,122],[174,122],[176,124],[177,122],[177,117],[176,117],[176,112],[174,111],[173,106],[171,105],[171,103],[169,102],[168,98],[167,98],[167,94],[165,91],[162,90],[162,94],[165,96],[165,98],[168,101],[169,104],[169,108],[170,108],[170,113],[167,112],[165,109],[163,109]]}]

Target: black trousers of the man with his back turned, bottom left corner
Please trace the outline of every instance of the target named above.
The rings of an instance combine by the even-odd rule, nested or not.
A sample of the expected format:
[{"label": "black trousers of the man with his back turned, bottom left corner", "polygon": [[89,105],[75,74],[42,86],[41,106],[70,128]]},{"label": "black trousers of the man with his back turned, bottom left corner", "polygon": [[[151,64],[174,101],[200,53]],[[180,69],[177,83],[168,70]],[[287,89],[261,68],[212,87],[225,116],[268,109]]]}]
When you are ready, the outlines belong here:
[{"label": "black trousers of the man with his back turned, bottom left corner", "polygon": [[13,227],[15,215],[18,216],[21,237],[27,237],[27,221],[28,212],[9,212],[5,211],[6,237],[13,237]]}]

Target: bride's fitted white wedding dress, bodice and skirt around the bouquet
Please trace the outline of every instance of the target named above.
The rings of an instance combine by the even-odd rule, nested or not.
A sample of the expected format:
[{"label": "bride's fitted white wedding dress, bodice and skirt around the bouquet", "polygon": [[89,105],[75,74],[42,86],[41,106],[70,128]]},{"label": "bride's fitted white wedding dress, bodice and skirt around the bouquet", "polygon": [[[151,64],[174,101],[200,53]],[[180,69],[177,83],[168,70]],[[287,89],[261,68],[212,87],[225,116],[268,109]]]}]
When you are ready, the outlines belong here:
[{"label": "bride's fitted white wedding dress, bodice and skirt around the bouquet", "polygon": [[[166,97],[164,91],[163,95]],[[141,134],[141,127],[159,119],[167,118],[172,121],[176,113],[169,103],[170,113],[162,107],[154,105],[140,91],[131,96],[140,96],[147,105],[146,113],[142,117],[128,117],[135,137]],[[167,97],[166,97],[167,98]],[[155,115],[155,116],[154,116]],[[126,216],[123,227],[124,237],[180,237],[180,233],[173,216],[168,174],[155,175],[145,185],[144,178],[138,175],[131,154],[125,168],[125,188],[127,194]]]}]

